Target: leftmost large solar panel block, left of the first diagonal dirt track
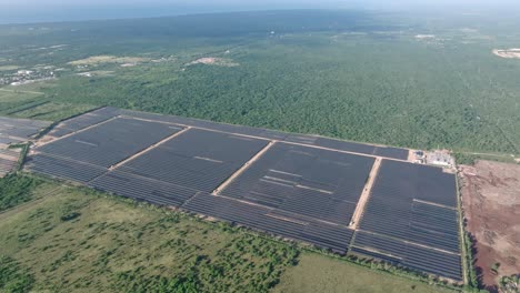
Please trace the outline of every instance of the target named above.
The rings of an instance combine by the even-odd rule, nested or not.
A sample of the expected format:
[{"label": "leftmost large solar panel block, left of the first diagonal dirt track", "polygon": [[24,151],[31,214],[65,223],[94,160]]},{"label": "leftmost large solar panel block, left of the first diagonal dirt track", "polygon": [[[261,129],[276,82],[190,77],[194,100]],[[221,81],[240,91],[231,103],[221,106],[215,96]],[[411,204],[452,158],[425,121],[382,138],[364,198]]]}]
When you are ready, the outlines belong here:
[{"label": "leftmost large solar panel block, left of the first diagonal dirt track", "polygon": [[87,183],[111,165],[172,135],[180,127],[118,118],[38,148],[27,166],[52,176]]}]

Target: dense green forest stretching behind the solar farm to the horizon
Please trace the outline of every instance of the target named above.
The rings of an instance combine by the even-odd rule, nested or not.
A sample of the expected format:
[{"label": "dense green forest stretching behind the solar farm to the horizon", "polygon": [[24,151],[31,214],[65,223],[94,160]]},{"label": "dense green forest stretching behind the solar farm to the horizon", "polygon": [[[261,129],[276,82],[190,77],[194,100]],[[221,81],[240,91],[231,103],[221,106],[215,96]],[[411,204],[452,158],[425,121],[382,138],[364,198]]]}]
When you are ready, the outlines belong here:
[{"label": "dense green forest stretching behind the solar farm to the horizon", "polygon": [[61,119],[52,111],[63,104],[114,105],[518,154],[520,60],[492,50],[514,47],[520,36],[514,18],[496,17],[273,11],[3,26],[0,67],[51,65],[57,79],[4,87],[43,95],[2,107],[0,94],[0,111]]}]

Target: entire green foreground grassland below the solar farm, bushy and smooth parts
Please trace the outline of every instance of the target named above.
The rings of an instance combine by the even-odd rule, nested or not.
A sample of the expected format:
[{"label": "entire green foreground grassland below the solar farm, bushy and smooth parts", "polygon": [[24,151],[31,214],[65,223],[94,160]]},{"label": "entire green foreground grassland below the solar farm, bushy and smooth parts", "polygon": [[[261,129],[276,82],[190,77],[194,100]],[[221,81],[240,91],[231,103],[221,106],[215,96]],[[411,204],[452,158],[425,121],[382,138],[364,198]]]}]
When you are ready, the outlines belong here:
[{"label": "entire green foreground grassland below the solar farm, bushy and smooth parts", "polygon": [[0,292],[444,291],[84,188],[4,183],[24,200],[0,212]]}]

